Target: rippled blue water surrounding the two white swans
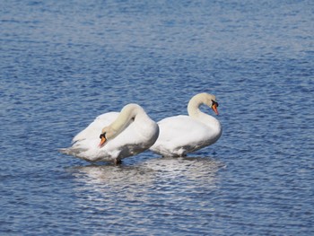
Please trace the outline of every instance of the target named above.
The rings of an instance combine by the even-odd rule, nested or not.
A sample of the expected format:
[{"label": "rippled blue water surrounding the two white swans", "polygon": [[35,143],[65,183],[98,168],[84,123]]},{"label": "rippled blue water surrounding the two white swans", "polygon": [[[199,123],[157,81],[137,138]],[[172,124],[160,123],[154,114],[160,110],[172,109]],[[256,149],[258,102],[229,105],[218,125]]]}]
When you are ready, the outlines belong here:
[{"label": "rippled blue water surrounding the two white swans", "polygon": [[[1,235],[314,235],[313,1],[0,2]],[[214,93],[187,158],[58,153],[129,102]],[[210,112],[210,110],[205,109]]]}]

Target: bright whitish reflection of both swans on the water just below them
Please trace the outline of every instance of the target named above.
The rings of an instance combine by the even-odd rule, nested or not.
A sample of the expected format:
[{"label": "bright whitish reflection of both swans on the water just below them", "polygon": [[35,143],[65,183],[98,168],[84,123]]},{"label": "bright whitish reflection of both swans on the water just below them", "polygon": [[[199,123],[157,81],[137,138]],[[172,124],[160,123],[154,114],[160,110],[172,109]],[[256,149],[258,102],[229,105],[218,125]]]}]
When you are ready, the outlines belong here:
[{"label": "bright whitish reflection of both swans on the water just below them", "polygon": [[[216,172],[223,163],[210,157],[155,158],[132,165],[89,165],[72,168],[83,188],[111,188],[115,191],[134,188],[135,191],[155,185],[208,184],[214,187]],[[194,183],[191,183],[194,181]]]}]

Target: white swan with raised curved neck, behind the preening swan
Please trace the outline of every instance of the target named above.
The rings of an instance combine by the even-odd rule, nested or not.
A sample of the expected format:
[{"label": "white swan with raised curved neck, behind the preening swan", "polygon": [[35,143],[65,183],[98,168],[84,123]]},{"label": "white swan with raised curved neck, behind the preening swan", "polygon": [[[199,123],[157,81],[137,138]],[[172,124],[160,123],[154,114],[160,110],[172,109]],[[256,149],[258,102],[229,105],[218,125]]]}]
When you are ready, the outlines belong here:
[{"label": "white swan with raised curved neck, behind the preening swan", "polygon": [[188,116],[164,118],[157,123],[160,134],[150,150],[162,156],[186,156],[214,144],[222,135],[222,126],[218,119],[199,109],[202,104],[218,115],[218,102],[214,95],[206,92],[196,94],[188,102]]}]

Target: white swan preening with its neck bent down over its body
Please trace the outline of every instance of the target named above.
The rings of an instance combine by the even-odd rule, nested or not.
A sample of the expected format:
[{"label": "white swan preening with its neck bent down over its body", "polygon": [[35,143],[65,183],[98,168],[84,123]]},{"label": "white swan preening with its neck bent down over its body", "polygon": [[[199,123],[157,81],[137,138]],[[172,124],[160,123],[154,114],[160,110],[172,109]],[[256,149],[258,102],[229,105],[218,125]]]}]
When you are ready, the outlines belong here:
[{"label": "white swan preening with its neck bent down over its body", "polygon": [[73,145],[60,149],[89,162],[114,162],[142,153],[153,145],[159,127],[144,109],[127,104],[120,112],[108,112],[74,136]]}]

